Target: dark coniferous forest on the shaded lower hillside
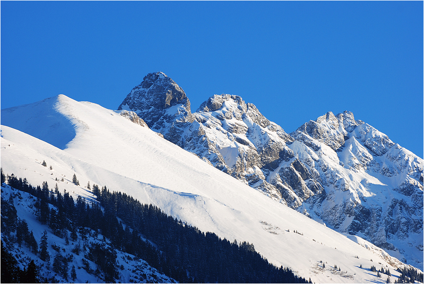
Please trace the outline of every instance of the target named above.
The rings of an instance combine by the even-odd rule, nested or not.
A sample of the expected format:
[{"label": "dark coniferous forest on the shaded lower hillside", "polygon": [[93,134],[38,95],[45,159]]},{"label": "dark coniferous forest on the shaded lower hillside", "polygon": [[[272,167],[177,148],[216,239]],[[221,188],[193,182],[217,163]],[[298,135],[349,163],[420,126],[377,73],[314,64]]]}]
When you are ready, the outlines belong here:
[{"label": "dark coniferous forest on the shaded lower hillside", "polygon": [[[13,174],[5,177],[2,171],[1,182],[36,197],[34,206],[38,221],[47,224],[56,236],[68,240],[69,232],[71,241],[76,240],[78,235],[87,239],[90,231],[107,238],[110,246],[90,243],[85,256],[97,264],[107,283],[116,282],[115,250],[145,260],[160,273],[180,283],[308,283],[294,275],[290,268],[278,268],[269,263],[255,251],[253,244],[236,240],[230,242],[212,232],[201,232],[165,214],[160,208],[142,204],[125,193],[88,185],[97,200],[87,202],[81,196],[74,200],[69,192],[62,194],[57,185],[50,189],[44,182],[41,187],[32,187],[26,179]],[[46,241],[47,232],[44,232],[44,241],[41,238],[37,244],[32,232],[28,231],[26,221],[17,217],[12,201],[1,198],[3,238],[13,234],[16,242],[25,244],[40,259],[51,260],[53,270],[64,275],[65,279],[75,280],[75,268],[67,267],[64,256],[60,253],[57,256],[46,254],[46,246],[51,245]],[[79,253],[79,248],[75,250]],[[26,271],[31,269],[30,275],[19,274],[15,262],[2,244],[2,283],[6,280],[3,278],[5,274],[13,276],[7,278],[7,282],[11,283],[26,282],[28,277],[37,279],[36,267],[28,265]],[[37,281],[46,282],[45,279]]]}]

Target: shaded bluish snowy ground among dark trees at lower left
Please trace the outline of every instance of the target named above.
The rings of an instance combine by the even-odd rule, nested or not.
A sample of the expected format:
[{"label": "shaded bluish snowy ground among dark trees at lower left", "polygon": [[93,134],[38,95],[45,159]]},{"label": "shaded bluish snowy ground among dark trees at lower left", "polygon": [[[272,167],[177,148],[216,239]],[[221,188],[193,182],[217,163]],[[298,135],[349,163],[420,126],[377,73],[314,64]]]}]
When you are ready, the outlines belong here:
[{"label": "shaded bluish snowy ground among dark trees at lower left", "polygon": [[[68,188],[69,189],[69,188]],[[81,191],[80,188],[75,188],[77,192]],[[74,192],[75,193],[75,192]],[[11,197],[11,199],[9,199]],[[110,242],[103,238],[103,235],[99,235],[93,231],[87,232],[87,238],[83,240],[81,236],[78,236],[75,241],[68,242],[64,238],[60,238],[52,233],[51,228],[44,224],[42,225],[36,218],[37,209],[35,202],[37,198],[34,198],[31,194],[23,191],[13,189],[7,185],[1,187],[1,202],[10,202],[16,208],[16,215],[21,220],[25,220],[28,224],[28,231],[33,232],[34,238],[40,240],[43,232],[48,232],[49,246],[47,251],[50,257],[50,264],[53,263],[53,258],[57,254],[57,251],[53,245],[57,248],[61,248],[59,253],[63,257],[70,258],[71,261],[68,263],[68,279],[64,279],[61,274],[55,273],[52,266],[42,261],[36,254],[29,250],[26,246],[19,246],[16,243],[10,242],[7,250],[12,253],[13,257],[16,258],[21,270],[24,270],[31,260],[34,261],[35,265],[39,267],[39,277],[48,280],[48,283],[69,283],[71,281],[70,272],[72,267],[76,270],[77,278],[74,283],[101,283],[104,282],[104,276],[102,274],[94,275],[84,269],[86,265],[93,269],[96,267],[92,261],[85,259],[85,255],[88,251],[87,247],[91,243],[99,243],[103,248],[111,249]],[[53,209],[53,206],[51,206]],[[54,208],[57,210],[57,208]],[[3,209],[2,209],[3,210]],[[2,216],[4,217],[4,216]],[[3,232],[4,233],[4,232]],[[1,237],[4,241],[4,235]],[[75,252],[75,247],[79,246],[82,252]],[[86,251],[87,250],[87,251]],[[175,280],[166,277],[163,274],[152,268],[144,260],[137,259],[133,255],[123,253],[116,249],[111,249],[116,253],[116,267],[120,267],[116,275],[116,280],[122,283],[144,281],[145,283],[176,283]],[[72,256],[72,257],[71,257]],[[84,264],[86,262],[86,265]]]}]

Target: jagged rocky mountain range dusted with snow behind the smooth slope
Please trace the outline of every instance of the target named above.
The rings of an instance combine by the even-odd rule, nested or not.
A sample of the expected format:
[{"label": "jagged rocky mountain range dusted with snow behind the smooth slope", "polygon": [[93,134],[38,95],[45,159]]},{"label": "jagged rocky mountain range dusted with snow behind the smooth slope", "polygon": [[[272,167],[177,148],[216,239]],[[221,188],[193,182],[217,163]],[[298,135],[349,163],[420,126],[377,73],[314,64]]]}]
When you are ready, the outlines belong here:
[{"label": "jagged rocky mountain range dusted with snow behind the smooth slope", "polygon": [[423,159],[353,113],[328,112],[287,134],[237,95],[213,95],[191,113],[161,72],[118,109],[272,199],[423,268]]}]

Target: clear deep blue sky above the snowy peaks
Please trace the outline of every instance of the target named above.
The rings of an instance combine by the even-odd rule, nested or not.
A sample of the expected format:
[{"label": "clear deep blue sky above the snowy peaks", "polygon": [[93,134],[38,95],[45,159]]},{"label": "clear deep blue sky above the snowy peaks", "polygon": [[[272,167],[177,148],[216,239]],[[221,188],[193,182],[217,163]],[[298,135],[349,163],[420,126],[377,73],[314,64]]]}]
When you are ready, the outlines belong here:
[{"label": "clear deep blue sky above the snowy peaks", "polygon": [[292,132],[344,110],[423,157],[423,1],[1,1],[1,108],[116,109],[150,72]]}]

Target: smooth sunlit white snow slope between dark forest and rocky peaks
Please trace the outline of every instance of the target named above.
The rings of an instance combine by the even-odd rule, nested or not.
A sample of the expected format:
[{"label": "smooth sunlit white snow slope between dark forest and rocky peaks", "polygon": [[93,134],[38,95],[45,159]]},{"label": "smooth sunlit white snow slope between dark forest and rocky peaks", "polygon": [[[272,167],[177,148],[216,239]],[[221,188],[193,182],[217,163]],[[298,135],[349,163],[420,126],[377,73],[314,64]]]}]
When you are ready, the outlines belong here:
[{"label": "smooth sunlit white snow slope between dark forest and rocky peaks", "polygon": [[[372,265],[387,265],[391,271],[403,265],[374,245],[354,237],[358,244],[242,184],[120,112],[64,95],[2,110],[2,123],[44,133],[38,137],[53,145],[1,125],[1,167],[5,174],[25,177],[32,185],[47,181],[53,186],[56,178],[64,178],[58,183],[60,190],[87,198],[91,192],[70,182],[73,174],[81,185],[106,185],[153,203],[202,231],[253,243],[273,264],[291,267],[317,283],[383,282],[386,279],[369,271]],[[28,121],[28,113],[38,115],[32,120],[38,130],[22,122]],[[61,126],[68,124],[53,127],[55,121],[73,126],[75,137],[67,144],[58,143],[51,129],[61,133]],[[43,160],[52,170],[41,165]],[[320,261],[327,263],[325,268]]]}]

